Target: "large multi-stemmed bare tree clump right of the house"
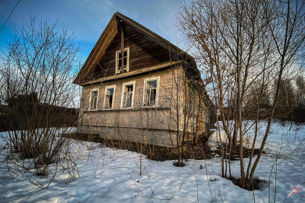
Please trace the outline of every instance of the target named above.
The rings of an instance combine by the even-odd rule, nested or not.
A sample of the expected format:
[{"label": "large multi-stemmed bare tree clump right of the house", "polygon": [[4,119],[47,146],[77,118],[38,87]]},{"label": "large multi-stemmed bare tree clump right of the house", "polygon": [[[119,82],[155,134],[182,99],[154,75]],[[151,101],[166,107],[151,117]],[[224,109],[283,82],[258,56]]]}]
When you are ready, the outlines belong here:
[{"label": "large multi-stemmed bare tree clump right of the house", "polygon": [[[263,152],[278,100],[282,74],[292,72],[290,67],[296,67],[297,70],[300,67],[298,62],[302,61],[304,56],[302,7],[303,4],[301,9],[295,7],[292,11],[290,2],[267,0],[196,0],[190,5],[183,5],[177,14],[179,30],[192,44],[193,55],[196,56],[202,72],[207,78],[212,78],[210,96],[213,97],[216,110],[220,111],[222,121],[217,124],[221,124],[226,132],[230,149],[231,146],[236,146],[239,135],[241,187],[252,188],[253,174]],[[278,81],[275,89],[268,87],[273,78]],[[257,89],[257,93],[253,93],[253,86],[261,88]],[[269,90],[271,92],[268,92]],[[272,90],[276,91],[272,98],[268,128],[260,146],[260,154],[251,172],[245,174],[245,115],[253,110],[254,104],[250,101],[254,101],[254,98],[258,115],[259,106],[265,100],[264,95],[272,94]],[[247,106],[249,108],[246,108]],[[230,123],[225,120],[226,112],[233,114],[233,132]],[[258,117],[255,123],[257,122]],[[251,162],[248,163],[248,170],[250,165]]]}]

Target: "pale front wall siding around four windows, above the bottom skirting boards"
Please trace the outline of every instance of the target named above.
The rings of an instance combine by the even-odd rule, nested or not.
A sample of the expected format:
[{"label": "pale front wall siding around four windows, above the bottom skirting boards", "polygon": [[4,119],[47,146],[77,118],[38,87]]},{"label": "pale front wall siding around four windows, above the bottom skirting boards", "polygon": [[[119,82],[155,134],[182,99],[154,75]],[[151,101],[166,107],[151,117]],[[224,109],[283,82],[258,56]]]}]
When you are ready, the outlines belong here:
[{"label": "pale front wall siding around four windows, above the bottom skirting boards", "polygon": [[[82,115],[79,117],[79,125],[174,130],[176,124],[174,122],[174,117],[170,115],[173,112],[170,105],[171,98],[167,94],[168,90],[177,91],[171,86],[172,72],[172,69],[167,69],[129,79],[83,87],[81,99]],[[142,108],[144,79],[156,76],[160,76],[159,107]],[[133,81],[135,81],[134,108],[120,109],[123,83]],[[114,109],[103,110],[105,87],[113,85],[116,85],[113,102]],[[99,88],[98,108],[97,110],[90,110],[88,109],[90,92],[91,89],[96,88]]]}]

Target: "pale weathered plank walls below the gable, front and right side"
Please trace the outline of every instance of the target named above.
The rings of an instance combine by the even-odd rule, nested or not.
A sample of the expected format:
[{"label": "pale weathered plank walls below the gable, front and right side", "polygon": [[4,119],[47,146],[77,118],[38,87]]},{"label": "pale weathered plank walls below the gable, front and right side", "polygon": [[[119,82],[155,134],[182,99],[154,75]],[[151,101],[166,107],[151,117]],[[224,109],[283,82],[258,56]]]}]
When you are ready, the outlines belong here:
[{"label": "pale weathered plank walls below the gable, front and right side", "polygon": [[[178,102],[180,119],[179,131],[183,131],[183,119],[181,102],[183,99],[183,91],[177,93],[175,81],[178,81],[178,86],[181,87],[181,66],[170,68],[167,70],[154,72],[151,74],[140,75],[128,79],[121,79],[118,81],[103,82],[101,84],[94,84],[92,86],[84,86],[82,99],[81,99],[81,115],[79,117],[78,132],[99,134],[105,138],[118,139],[130,142],[141,142],[141,135],[145,141],[143,143],[153,144],[149,137],[150,131],[156,131],[155,145],[165,147],[176,147],[177,141],[173,138],[176,137],[177,130],[177,113],[175,110],[175,102]],[[160,89],[159,89],[159,107],[142,108],[142,96],[144,79],[160,76]],[[182,76],[183,77],[183,76]],[[120,108],[123,83],[135,81],[135,96],[134,108],[122,109]],[[113,108],[111,110],[103,109],[105,87],[116,85]],[[97,110],[88,110],[91,89],[99,88],[98,108]],[[182,88],[182,87],[181,87]],[[189,92],[189,90],[186,90]],[[181,95],[182,94],[182,95]],[[198,95],[195,96],[195,101],[192,102],[192,114],[197,114],[198,108]],[[194,116],[192,115],[192,116]],[[190,119],[190,118],[189,118]],[[186,131],[188,136],[192,135],[196,129],[196,119],[190,119]],[[206,125],[202,122],[198,131],[203,132]],[[164,141],[157,141],[159,139]],[[163,136],[163,138],[162,138]]]}]

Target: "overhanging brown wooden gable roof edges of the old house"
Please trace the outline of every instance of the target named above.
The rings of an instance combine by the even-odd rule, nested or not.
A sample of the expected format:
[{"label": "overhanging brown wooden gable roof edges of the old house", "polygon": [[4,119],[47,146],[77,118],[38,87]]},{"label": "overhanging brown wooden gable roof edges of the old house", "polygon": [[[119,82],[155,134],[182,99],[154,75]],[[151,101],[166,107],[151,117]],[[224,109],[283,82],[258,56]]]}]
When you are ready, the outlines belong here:
[{"label": "overhanging brown wooden gable roof edges of the old house", "polygon": [[[132,27],[139,33],[142,33],[150,40],[154,41],[155,43],[159,44],[161,47],[165,48],[166,50],[170,51],[170,53],[179,56],[188,56],[188,59],[191,60],[192,66],[196,68],[196,63],[194,58],[188,55],[185,51],[180,49],[179,47],[175,46],[174,44],[170,43],[170,41],[164,39],[160,35],[152,32],[151,30],[147,29],[146,27],[142,26],[141,24],[135,22],[134,20],[124,16],[123,14],[116,12],[111,17],[109,23],[107,24],[106,28],[102,32],[99,40],[91,50],[88,58],[86,59],[84,65],[82,66],[80,72],[77,74],[76,78],[74,79],[74,84],[80,84],[86,77],[86,75],[90,74],[97,65],[99,59],[104,54],[105,50],[119,31],[119,23],[122,21],[126,25]],[[198,69],[196,68],[198,71]],[[199,71],[198,71],[199,72]]]}]

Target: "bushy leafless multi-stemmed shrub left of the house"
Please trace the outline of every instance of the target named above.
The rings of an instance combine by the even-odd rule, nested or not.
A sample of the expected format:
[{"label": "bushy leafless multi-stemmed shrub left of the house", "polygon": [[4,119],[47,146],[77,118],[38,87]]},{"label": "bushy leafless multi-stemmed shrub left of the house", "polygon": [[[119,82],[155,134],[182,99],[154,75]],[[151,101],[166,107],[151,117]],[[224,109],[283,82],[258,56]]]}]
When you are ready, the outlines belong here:
[{"label": "bushy leafless multi-stemmed shrub left of the house", "polygon": [[33,159],[37,174],[44,176],[64,148],[66,138],[59,135],[68,133],[76,121],[66,116],[78,99],[79,89],[72,81],[80,65],[80,47],[64,25],[36,24],[35,17],[28,28],[15,33],[2,50],[0,67],[0,102],[8,105],[7,142],[11,156],[17,152],[21,159]]}]

